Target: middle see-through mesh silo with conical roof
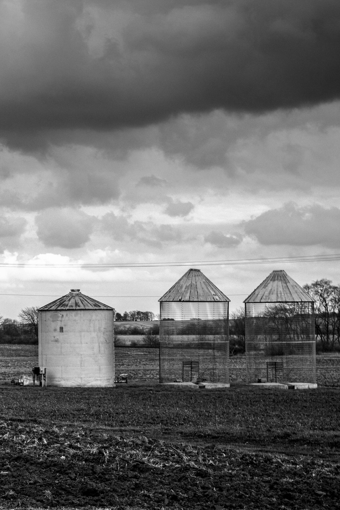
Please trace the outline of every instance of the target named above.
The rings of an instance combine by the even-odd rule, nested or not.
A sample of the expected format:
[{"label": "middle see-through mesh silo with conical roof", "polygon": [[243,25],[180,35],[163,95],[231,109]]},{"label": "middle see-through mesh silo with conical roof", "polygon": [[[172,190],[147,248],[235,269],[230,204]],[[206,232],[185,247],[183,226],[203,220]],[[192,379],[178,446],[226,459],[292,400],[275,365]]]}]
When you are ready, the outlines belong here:
[{"label": "middle see-through mesh silo with conical roof", "polygon": [[189,269],[159,301],[160,382],[228,384],[227,296]]}]

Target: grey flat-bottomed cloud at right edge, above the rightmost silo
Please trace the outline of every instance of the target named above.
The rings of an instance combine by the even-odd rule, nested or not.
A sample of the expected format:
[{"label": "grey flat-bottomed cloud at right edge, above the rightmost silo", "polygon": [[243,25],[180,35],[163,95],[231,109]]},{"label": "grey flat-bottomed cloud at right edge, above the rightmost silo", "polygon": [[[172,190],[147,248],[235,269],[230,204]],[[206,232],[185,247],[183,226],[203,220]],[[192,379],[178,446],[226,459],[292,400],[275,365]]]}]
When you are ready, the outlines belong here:
[{"label": "grey flat-bottomed cloud at right edge, above the rightmost silo", "polygon": [[340,209],[287,203],[243,224],[245,233],[264,245],[340,247]]}]

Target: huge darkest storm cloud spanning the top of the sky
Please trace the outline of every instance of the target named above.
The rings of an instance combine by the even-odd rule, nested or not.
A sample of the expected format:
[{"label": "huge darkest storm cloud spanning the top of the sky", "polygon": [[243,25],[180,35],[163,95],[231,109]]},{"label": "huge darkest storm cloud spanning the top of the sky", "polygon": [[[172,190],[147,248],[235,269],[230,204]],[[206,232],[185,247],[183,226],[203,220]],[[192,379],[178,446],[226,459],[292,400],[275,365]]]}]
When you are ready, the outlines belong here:
[{"label": "huge darkest storm cloud spanning the top of the sky", "polygon": [[338,0],[22,0],[0,18],[8,139],[340,97]]}]

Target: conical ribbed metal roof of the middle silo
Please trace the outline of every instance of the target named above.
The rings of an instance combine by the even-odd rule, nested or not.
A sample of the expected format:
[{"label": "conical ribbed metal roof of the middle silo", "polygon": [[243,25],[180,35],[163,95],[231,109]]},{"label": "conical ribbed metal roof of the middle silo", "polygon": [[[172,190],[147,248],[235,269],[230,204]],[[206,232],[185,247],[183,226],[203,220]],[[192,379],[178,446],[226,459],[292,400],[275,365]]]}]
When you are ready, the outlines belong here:
[{"label": "conical ribbed metal roof of the middle silo", "polygon": [[230,301],[199,269],[189,269],[159,301]]}]

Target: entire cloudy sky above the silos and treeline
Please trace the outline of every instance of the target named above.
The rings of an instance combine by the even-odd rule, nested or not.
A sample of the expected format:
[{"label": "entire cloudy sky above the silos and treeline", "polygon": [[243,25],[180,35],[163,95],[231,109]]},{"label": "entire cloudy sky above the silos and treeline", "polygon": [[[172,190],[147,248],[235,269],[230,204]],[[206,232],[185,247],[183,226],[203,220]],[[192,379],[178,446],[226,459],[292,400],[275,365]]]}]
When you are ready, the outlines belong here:
[{"label": "entire cloudy sky above the silos and treeline", "polygon": [[231,309],[273,269],[339,283],[291,262],[340,253],[339,55],[338,0],[0,1],[0,315],[157,313],[169,263]]}]

